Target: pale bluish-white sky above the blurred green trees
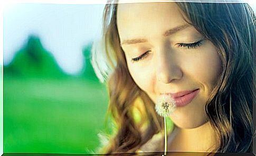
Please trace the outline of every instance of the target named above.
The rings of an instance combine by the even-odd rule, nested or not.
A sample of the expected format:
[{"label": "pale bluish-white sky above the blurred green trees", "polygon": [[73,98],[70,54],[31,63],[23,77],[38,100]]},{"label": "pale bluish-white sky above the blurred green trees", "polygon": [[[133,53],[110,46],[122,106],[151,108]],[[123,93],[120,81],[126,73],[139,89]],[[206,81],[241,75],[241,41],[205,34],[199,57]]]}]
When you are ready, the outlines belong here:
[{"label": "pale bluish-white sky above the blurred green trees", "polygon": [[[71,1],[64,1],[64,4],[40,4],[40,1],[34,0],[5,5],[4,59],[0,63],[8,65],[17,50],[26,43],[27,37],[34,34],[40,37],[43,47],[54,56],[65,72],[78,74],[83,67],[83,47],[99,38],[101,33],[101,19],[106,1],[87,1],[88,4],[69,2]],[[246,2],[255,11],[255,3]]]}]

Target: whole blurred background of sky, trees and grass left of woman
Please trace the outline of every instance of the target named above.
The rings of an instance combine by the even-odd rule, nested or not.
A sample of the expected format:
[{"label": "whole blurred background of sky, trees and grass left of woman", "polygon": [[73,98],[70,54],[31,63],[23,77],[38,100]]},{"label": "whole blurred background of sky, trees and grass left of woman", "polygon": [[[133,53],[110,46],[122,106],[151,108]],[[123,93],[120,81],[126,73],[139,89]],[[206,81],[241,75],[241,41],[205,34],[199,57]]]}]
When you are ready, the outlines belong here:
[{"label": "whole blurred background of sky, trees and grass left of woman", "polygon": [[93,153],[108,105],[90,63],[104,4],[4,9],[4,152]]}]

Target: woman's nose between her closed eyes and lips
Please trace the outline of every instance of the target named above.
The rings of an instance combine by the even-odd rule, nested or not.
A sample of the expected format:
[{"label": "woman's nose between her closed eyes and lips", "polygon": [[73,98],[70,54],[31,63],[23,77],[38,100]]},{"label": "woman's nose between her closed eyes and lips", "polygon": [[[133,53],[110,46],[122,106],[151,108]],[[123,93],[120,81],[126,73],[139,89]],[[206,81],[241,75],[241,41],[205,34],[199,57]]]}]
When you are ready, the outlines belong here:
[{"label": "woman's nose between her closed eyes and lips", "polygon": [[170,49],[159,50],[156,62],[156,77],[157,80],[164,84],[169,84],[172,81],[179,80],[183,76],[181,67],[178,65],[178,60],[172,55]]}]

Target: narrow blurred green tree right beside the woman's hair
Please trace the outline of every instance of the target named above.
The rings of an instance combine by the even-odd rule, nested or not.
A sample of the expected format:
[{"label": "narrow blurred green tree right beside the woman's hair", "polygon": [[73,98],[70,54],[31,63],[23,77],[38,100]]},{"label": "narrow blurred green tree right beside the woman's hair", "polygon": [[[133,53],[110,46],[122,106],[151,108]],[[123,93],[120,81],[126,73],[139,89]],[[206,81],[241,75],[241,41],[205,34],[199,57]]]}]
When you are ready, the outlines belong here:
[{"label": "narrow blurred green tree right beside the woman's hair", "polygon": [[82,77],[85,79],[90,79],[93,81],[99,81],[97,78],[93,67],[91,65],[91,48],[92,43],[89,43],[83,48],[83,56],[84,56],[84,67],[82,69]]}]

